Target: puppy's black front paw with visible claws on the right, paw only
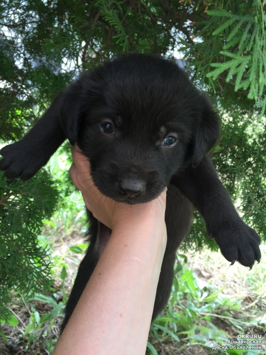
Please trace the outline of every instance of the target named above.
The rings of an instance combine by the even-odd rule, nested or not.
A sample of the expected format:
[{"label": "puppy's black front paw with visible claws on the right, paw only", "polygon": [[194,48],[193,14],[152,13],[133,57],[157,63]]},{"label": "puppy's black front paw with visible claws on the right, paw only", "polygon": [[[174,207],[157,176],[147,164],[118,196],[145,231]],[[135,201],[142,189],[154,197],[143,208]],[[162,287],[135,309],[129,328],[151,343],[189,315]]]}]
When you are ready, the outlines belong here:
[{"label": "puppy's black front paw with visible claws on the right, paw only", "polygon": [[239,261],[244,266],[252,266],[255,260],[259,263],[261,254],[259,250],[260,237],[254,229],[248,227],[242,220],[224,222],[220,228],[209,233],[214,237],[224,258],[231,262]]}]

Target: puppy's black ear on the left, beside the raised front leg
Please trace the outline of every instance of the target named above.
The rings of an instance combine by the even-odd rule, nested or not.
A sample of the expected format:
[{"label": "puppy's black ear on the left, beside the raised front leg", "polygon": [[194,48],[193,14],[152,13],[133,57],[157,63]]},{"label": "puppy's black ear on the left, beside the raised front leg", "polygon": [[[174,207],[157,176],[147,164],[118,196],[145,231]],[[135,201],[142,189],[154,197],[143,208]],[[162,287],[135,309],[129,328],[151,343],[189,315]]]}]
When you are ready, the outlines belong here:
[{"label": "puppy's black ear on the left, beside the raised front leg", "polygon": [[83,91],[82,80],[79,79],[72,83],[61,96],[59,112],[60,124],[72,146],[77,141],[80,121],[83,114]]}]

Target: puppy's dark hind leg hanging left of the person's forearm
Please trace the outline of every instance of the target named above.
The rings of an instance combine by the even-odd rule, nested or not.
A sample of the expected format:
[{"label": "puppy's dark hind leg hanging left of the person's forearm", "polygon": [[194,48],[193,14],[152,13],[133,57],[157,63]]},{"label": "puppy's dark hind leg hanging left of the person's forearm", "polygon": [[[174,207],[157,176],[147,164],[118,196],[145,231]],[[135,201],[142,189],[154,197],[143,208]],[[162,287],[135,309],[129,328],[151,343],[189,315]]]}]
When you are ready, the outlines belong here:
[{"label": "puppy's dark hind leg hanging left of the person's forearm", "polygon": [[104,250],[105,245],[111,235],[109,228],[98,222],[87,209],[88,218],[90,221],[89,228],[89,242],[90,245],[86,252],[84,259],[82,260],[77,277],[70,293],[69,299],[66,303],[64,313],[64,321],[61,325],[61,333],[64,330],[69,318],[77,305],[94,269],[97,265],[99,258]]}]

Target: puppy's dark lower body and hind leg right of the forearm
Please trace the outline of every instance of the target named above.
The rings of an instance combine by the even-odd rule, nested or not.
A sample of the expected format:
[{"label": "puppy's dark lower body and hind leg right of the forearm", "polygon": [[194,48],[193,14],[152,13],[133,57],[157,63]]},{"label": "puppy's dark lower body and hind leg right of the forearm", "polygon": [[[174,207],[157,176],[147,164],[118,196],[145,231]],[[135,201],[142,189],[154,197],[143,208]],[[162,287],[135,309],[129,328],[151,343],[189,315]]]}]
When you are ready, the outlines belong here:
[{"label": "puppy's dark lower body and hind leg right of the forearm", "polygon": [[164,309],[170,296],[174,277],[176,250],[189,232],[191,221],[191,203],[176,188],[169,185],[165,211],[167,244],[157,287],[152,320]]}]

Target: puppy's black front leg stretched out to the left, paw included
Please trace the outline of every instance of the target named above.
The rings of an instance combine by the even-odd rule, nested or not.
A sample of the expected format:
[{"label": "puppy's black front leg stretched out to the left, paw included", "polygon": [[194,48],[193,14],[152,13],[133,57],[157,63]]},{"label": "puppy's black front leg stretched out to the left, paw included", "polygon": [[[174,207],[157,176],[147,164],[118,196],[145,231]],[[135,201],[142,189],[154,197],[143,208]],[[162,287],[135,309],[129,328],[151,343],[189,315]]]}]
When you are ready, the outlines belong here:
[{"label": "puppy's black front leg stretched out to the left, paw included", "polygon": [[8,179],[30,179],[66,139],[59,122],[60,105],[61,94],[21,140],[1,149],[0,170],[6,170]]}]

